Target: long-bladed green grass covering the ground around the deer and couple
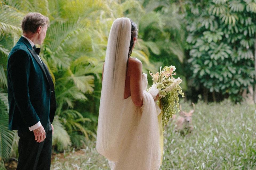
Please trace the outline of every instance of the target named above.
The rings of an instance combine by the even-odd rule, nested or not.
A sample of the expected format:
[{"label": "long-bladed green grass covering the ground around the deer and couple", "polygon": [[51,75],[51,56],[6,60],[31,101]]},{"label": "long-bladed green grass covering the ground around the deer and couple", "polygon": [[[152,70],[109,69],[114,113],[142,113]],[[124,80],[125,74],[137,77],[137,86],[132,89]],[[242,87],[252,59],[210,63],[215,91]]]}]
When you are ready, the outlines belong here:
[{"label": "long-bladed green grass covering the ground around the deer and couple", "polygon": [[[182,103],[182,109],[191,109]],[[256,107],[248,104],[196,104],[194,130],[185,137],[170,123],[164,132],[161,169],[256,169]],[[79,151],[58,154],[51,169],[110,169],[95,142]]]}]

